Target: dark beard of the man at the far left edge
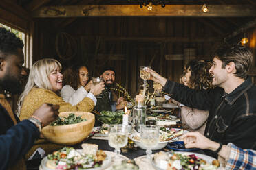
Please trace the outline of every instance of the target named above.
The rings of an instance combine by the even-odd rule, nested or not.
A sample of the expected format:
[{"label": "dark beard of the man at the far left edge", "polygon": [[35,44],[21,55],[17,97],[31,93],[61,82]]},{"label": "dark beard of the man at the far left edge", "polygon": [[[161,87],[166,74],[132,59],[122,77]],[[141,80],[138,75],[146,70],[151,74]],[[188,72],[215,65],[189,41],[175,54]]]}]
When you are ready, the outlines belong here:
[{"label": "dark beard of the man at the far left edge", "polygon": [[21,84],[19,83],[19,80],[11,75],[6,75],[3,77],[3,79],[0,80],[0,86],[3,88],[3,90],[7,90],[12,94],[21,93]]}]

